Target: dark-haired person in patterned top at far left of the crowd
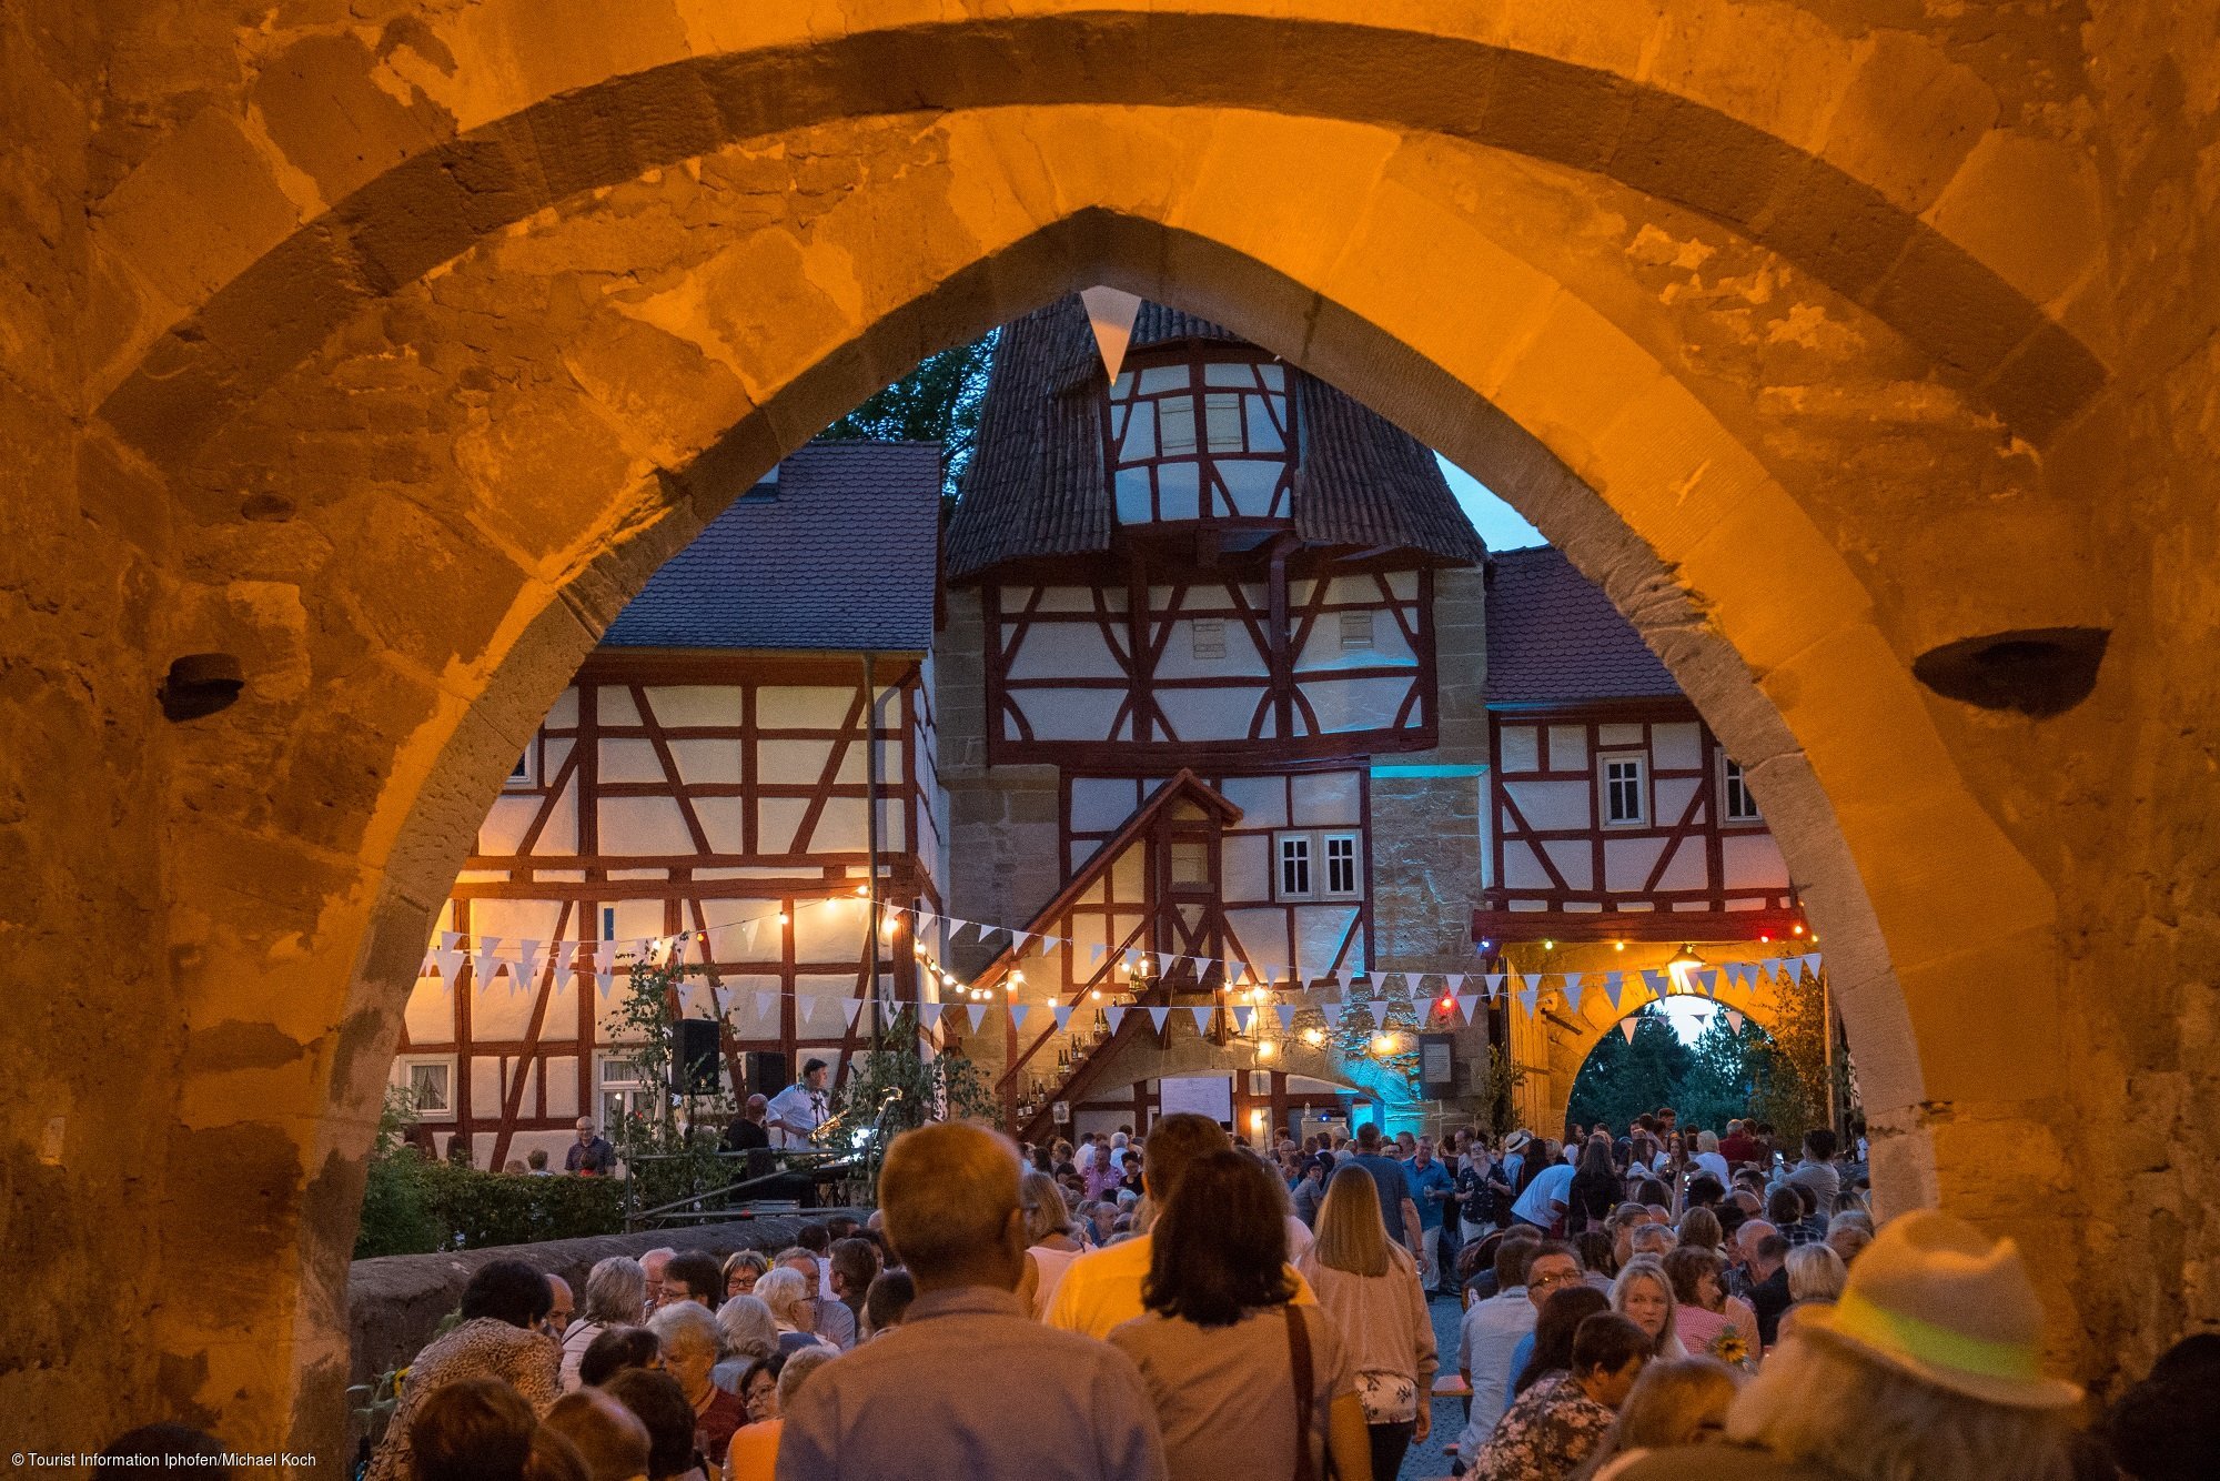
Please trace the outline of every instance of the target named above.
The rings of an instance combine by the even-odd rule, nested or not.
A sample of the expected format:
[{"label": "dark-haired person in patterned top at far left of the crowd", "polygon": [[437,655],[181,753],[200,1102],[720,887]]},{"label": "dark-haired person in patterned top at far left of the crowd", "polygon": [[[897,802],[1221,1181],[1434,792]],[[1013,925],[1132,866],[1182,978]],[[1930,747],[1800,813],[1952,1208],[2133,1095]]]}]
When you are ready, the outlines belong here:
[{"label": "dark-haired person in patterned top at far left of the crowd", "polygon": [[366,1481],[408,1481],[415,1474],[408,1423],[417,1406],[448,1383],[502,1379],[531,1403],[535,1414],[544,1414],[562,1392],[557,1381],[562,1350],[539,1330],[553,1306],[555,1290],[548,1277],[524,1261],[497,1259],[480,1266],[462,1290],[462,1323],[433,1339],[408,1366],[386,1437],[364,1472]]}]

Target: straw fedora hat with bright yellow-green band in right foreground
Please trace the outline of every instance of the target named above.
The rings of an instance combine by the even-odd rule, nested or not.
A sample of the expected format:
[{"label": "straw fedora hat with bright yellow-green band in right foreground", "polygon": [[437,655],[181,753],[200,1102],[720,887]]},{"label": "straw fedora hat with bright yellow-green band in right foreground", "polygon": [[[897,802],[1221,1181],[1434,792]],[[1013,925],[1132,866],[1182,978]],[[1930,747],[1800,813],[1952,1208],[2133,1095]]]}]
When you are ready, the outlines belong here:
[{"label": "straw fedora hat with bright yellow-green band in right foreground", "polygon": [[1987,1403],[2060,1408],[2082,1397],[2042,1377],[2042,1299],[2020,1248],[1934,1210],[1883,1223],[1843,1299],[1798,1308],[1796,1332]]}]

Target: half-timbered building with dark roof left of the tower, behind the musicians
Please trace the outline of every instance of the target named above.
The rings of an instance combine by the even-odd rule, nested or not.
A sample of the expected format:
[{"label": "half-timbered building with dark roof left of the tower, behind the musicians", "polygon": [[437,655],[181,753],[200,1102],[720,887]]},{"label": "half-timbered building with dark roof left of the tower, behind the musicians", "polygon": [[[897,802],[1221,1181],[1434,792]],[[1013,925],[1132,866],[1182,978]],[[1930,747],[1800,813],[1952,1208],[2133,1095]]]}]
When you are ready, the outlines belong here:
[{"label": "half-timbered building with dark roof left of the tower, behind the musicians", "polygon": [[[844,1064],[870,984],[915,997],[881,899],[939,908],[930,646],[937,444],[810,444],[610,624],[477,833],[408,999],[395,1081],[477,1166],[562,1166],[644,1084],[610,1028],[637,941],[684,937],[724,1075]],[[688,935],[690,933],[690,935]],[[868,1021],[864,1024],[868,1030]]]}]

